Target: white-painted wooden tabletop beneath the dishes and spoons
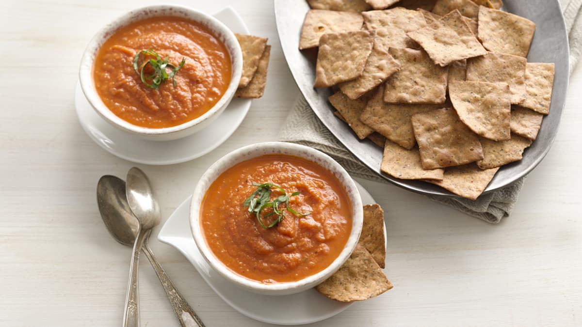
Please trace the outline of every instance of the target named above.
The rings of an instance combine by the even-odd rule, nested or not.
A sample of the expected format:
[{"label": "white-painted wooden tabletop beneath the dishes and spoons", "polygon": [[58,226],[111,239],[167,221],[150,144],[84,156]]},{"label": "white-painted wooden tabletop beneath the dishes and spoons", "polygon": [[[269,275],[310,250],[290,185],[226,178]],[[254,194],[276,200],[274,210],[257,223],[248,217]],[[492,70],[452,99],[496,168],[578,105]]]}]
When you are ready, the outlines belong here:
[{"label": "white-painted wooden tabletop beneath the dishes and spoons", "polygon": [[[299,0],[297,0],[299,1]],[[162,223],[219,157],[276,140],[298,91],[268,0],[174,1],[206,12],[232,5],[272,44],[265,96],[221,147],[171,166],[140,166]],[[155,1],[3,1],[0,4],[0,325],[118,326],[130,248],[109,236],[95,202],[101,175],[134,164],[113,157],[74,112],[77,69],[103,24]],[[499,225],[396,186],[361,181],[384,207],[391,291],[315,326],[582,325],[582,66],[574,73],[552,150]],[[257,121],[268,122],[256,123]],[[157,233],[159,227],[154,230]],[[207,326],[262,326],[224,303],[174,248],[152,239],[166,272]],[[141,262],[143,326],[177,325]]]}]

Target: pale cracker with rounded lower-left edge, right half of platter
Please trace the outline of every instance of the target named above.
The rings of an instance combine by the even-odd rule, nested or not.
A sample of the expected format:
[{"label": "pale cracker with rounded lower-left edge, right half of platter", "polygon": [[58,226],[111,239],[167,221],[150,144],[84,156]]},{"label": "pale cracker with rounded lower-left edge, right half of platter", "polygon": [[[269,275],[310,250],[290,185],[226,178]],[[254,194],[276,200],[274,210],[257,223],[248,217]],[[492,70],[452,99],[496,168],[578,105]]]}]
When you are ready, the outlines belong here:
[{"label": "pale cracker with rounded lower-left edge, right half of platter", "polygon": [[478,81],[452,81],[449,97],[465,125],[482,137],[509,140],[509,85]]}]

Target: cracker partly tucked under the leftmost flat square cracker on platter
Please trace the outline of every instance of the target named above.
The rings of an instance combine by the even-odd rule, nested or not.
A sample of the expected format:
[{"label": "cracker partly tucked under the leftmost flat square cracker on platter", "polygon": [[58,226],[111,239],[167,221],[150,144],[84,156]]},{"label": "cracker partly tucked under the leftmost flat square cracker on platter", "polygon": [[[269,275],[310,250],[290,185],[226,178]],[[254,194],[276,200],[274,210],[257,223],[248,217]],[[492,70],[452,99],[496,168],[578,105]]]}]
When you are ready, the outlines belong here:
[{"label": "cracker partly tucked under the leftmost flat square cracker on platter", "polygon": [[361,76],[339,84],[339,88],[348,98],[357,99],[372,88],[382,84],[398,70],[400,70],[400,64],[388,52],[374,47],[368,56]]}]

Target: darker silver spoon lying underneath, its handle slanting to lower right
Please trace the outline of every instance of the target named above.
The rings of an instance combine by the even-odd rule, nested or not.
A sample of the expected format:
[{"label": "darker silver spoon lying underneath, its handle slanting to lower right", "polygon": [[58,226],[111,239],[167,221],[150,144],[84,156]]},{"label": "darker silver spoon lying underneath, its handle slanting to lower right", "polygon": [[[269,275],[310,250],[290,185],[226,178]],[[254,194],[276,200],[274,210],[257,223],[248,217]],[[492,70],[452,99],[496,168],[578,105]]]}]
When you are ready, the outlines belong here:
[{"label": "darker silver spoon lying underneath, its handle slanting to lower right", "polygon": [[[123,245],[132,246],[139,230],[139,222],[127,203],[125,182],[115,176],[102,176],[97,183],[97,204],[101,218],[113,239]],[[164,286],[180,326],[196,326],[197,324],[204,327],[196,312],[176,290],[162,266],[155,259],[147,240],[145,240],[143,248],[145,256],[150,260],[156,275]]]}]

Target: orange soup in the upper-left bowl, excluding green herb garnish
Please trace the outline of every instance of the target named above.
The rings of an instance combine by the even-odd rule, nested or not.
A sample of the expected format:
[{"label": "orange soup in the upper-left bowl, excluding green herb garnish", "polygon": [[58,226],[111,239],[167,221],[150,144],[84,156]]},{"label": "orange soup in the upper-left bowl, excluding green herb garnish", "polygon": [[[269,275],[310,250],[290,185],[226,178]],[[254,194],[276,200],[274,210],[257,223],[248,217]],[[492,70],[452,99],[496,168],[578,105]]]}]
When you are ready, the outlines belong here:
[{"label": "orange soup in the upper-left bowl, excluding green herb garnish", "polygon": [[[186,59],[175,76],[176,86],[168,79],[155,90],[141,81],[133,69],[133,58],[147,49],[162,59],[168,56],[175,66]],[[107,108],[133,125],[150,128],[176,126],[200,117],[225,93],[230,75],[225,45],[201,24],[172,16],[122,27],[101,46],[93,64],[95,87]]]}]

